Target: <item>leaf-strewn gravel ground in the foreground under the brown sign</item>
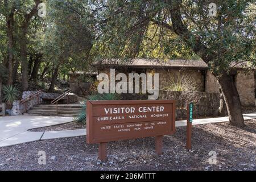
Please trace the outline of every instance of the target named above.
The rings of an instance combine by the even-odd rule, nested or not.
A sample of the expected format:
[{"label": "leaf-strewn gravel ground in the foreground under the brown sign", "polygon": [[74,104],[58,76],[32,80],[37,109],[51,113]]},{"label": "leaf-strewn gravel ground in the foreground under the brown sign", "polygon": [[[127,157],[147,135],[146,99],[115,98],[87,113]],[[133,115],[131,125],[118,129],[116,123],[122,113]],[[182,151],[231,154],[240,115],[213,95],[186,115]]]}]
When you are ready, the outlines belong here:
[{"label": "leaf-strewn gravel ground in the foreground under the brown sign", "polygon": [[[97,159],[98,145],[85,137],[40,140],[0,148],[0,170],[250,170],[255,171],[256,120],[239,129],[228,123],[196,125],[192,150],[185,149],[185,127],[164,136],[163,155],[156,155],[154,138],[108,143],[108,161]],[[46,152],[46,165],[39,164]],[[217,163],[208,155],[215,151]]]}]

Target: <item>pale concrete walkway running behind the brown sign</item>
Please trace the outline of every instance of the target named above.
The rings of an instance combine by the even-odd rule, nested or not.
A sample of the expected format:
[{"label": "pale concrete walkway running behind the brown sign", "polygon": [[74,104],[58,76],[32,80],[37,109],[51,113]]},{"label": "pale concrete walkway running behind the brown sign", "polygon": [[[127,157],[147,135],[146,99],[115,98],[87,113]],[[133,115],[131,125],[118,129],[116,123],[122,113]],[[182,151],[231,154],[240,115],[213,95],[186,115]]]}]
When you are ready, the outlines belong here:
[{"label": "pale concrete walkway running behind the brown sign", "polygon": [[[256,118],[256,113],[243,114],[243,118],[245,120]],[[60,123],[71,122],[72,120],[73,118],[70,117],[46,117],[30,115],[0,117],[0,147],[6,147],[25,142],[32,142],[36,140],[77,137],[86,135],[85,129],[45,132],[27,131],[36,127],[57,125]],[[193,119],[192,125],[228,121],[228,117]],[[186,124],[187,121],[185,120],[176,121],[176,127],[186,126]]]}]

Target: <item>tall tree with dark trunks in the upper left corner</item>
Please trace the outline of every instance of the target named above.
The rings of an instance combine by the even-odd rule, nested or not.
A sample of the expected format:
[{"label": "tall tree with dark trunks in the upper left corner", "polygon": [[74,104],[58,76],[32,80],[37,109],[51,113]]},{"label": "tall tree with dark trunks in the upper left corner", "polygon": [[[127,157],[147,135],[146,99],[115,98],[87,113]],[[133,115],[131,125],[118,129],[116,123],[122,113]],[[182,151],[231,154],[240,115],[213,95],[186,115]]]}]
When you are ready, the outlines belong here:
[{"label": "tall tree with dark trunks in the upper left corner", "polygon": [[28,35],[30,35],[30,30],[35,30],[36,27],[43,25],[34,23],[40,22],[38,18],[36,18],[38,4],[40,2],[42,1],[4,0],[0,2],[0,22],[3,22],[2,17],[5,18],[6,22],[6,26],[3,27],[3,31],[6,32],[6,37],[3,38],[6,39],[7,42],[7,46],[5,47],[7,55],[3,55],[3,53],[2,55],[3,59],[7,60],[6,67],[8,67],[9,70],[7,84],[12,85],[15,82],[20,63],[22,63],[23,90],[27,90],[28,86],[28,45],[35,47],[31,45],[31,36]]}]

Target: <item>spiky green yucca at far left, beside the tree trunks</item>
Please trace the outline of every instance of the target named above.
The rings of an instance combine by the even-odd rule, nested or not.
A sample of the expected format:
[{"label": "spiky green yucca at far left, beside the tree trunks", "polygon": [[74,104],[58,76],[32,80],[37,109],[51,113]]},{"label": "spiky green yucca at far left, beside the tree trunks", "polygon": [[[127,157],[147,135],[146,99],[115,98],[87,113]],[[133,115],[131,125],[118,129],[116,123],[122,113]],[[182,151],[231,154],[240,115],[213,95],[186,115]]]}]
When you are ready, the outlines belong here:
[{"label": "spiky green yucca at far left, beside the tree trunks", "polygon": [[16,86],[13,85],[4,85],[3,86],[3,100],[5,100],[9,104],[13,104],[19,97],[19,90]]}]

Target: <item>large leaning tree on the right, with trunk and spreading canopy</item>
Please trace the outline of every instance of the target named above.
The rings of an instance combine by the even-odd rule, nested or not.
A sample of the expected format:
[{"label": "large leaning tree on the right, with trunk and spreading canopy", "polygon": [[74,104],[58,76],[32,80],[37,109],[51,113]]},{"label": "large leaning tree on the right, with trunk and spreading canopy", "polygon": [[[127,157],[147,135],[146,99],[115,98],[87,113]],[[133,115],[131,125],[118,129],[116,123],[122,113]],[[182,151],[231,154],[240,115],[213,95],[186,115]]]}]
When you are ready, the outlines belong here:
[{"label": "large leaning tree on the right, with trunk and spreading canopy", "polygon": [[[217,5],[216,17],[209,16],[211,2]],[[234,0],[96,0],[90,2],[86,10],[90,9],[92,22],[97,22],[96,35],[99,36],[94,48],[102,57],[127,60],[138,56],[145,48],[143,42],[152,24],[175,33],[216,76],[230,123],[244,126],[240,97],[230,72],[241,62],[255,65],[255,7],[255,1]],[[158,36],[159,42],[163,42],[164,34]],[[171,44],[171,41],[163,44],[165,54],[172,52]]]}]

